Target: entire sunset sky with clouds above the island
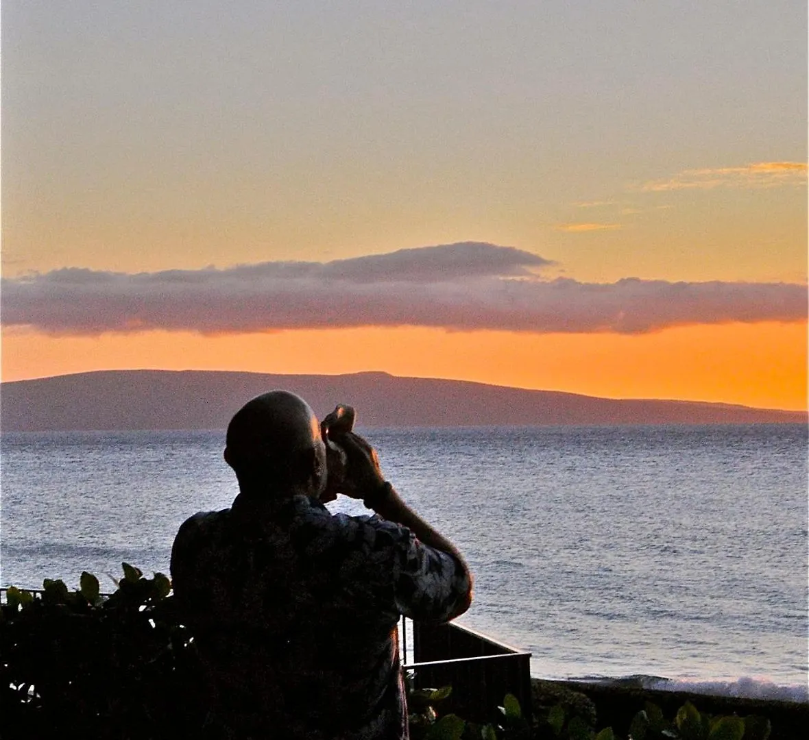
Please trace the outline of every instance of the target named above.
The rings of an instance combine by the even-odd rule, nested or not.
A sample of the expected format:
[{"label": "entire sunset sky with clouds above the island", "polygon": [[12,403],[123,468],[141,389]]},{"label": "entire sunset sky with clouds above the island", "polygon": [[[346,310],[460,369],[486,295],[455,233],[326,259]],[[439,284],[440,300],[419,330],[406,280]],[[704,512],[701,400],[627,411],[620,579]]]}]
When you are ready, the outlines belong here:
[{"label": "entire sunset sky with clouds above the island", "polygon": [[807,408],[807,7],[7,0],[2,379]]}]

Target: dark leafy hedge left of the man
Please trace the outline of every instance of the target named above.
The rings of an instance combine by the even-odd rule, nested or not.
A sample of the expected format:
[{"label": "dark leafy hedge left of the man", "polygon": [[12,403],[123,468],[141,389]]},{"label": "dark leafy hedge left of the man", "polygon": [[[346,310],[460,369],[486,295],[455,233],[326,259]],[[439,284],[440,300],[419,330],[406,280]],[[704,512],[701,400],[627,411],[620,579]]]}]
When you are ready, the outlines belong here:
[{"label": "dark leafy hedge left of the man", "polygon": [[91,573],[73,592],[50,579],[41,594],[7,590],[0,700],[9,736],[176,738],[201,724],[193,640],[166,598],[171,582],[123,568],[109,598]]}]

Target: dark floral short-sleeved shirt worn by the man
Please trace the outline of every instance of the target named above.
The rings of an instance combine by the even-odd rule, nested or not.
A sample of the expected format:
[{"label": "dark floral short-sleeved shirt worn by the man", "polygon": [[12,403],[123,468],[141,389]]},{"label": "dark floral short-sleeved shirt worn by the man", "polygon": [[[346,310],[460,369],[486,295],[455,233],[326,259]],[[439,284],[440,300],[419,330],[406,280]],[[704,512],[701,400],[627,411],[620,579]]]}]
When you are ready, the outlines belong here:
[{"label": "dark floral short-sleeved shirt worn by the man", "polygon": [[294,496],[195,514],[172,550],[222,738],[408,737],[396,624],[446,621],[471,581],[379,516]]}]

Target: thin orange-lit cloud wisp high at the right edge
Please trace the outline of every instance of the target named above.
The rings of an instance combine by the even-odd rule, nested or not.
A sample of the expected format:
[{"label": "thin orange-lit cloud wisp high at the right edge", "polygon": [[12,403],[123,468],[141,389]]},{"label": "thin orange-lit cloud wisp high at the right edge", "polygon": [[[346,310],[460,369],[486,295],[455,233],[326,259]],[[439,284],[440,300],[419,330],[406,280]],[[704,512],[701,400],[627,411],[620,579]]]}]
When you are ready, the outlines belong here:
[{"label": "thin orange-lit cloud wisp high at the right edge", "polygon": [[805,184],[807,164],[803,162],[757,162],[743,167],[684,170],[665,180],[649,180],[645,192],[670,190],[712,190],[714,188],[773,188]]}]

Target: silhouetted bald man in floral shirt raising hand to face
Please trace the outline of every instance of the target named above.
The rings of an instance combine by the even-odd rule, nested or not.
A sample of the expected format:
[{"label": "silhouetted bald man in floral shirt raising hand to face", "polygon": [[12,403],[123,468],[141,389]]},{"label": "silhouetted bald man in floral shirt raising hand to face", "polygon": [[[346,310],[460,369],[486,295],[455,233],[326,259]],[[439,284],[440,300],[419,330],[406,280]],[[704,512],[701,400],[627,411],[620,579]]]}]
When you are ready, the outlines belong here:
[{"label": "silhouetted bald man in floral shirt raising hand to face", "polygon": [[[364,439],[339,442],[347,463],[329,483],[311,408],[286,391],[258,396],[227,429],[231,509],[195,514],[176,536],[174,590],[217,737],[406,738],[399,617],[447,621],[469,607],[455,546],[385,482]],[[330,514],[323,501],[337,493],[377,515]]]}]

